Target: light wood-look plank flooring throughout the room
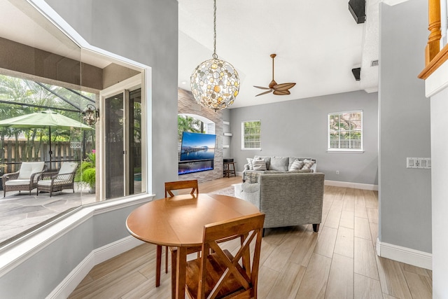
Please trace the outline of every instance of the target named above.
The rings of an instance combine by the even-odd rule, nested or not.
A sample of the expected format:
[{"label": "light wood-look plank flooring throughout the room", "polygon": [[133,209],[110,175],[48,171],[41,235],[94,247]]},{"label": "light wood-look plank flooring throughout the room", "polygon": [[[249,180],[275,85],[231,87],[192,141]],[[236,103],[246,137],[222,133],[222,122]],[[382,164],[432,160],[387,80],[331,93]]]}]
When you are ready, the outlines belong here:
[{"label": "light wood-look plank flooring throughout the room", "polygon": [[[200,192],[239,182],[201,183]],[[258,298],[431,298],[432,272],[378,257],[377,230],[377,192],[325,186],[318,233],[312,225],[266,229]],[[95,266],[70,298],[171,298],[170,290],[163,271],[155,288],[155,245],[144,244]]]}]

